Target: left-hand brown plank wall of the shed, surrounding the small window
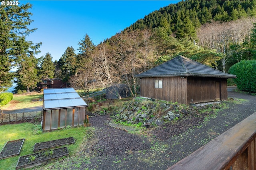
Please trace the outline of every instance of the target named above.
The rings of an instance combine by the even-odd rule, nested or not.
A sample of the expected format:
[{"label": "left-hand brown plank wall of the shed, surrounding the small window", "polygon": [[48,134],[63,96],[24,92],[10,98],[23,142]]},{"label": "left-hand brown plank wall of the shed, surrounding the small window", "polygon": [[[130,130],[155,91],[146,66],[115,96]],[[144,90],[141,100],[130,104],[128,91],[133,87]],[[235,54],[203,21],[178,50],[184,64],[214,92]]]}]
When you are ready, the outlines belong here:
[{"label": "left-hand brown plank wall of the shed, surrounding the small window", "polygon": [[[155,80],[162,80],[162,88],[155,88]],[[186,104],[186,77],[157,77],[140,79],[140,96]]]}]

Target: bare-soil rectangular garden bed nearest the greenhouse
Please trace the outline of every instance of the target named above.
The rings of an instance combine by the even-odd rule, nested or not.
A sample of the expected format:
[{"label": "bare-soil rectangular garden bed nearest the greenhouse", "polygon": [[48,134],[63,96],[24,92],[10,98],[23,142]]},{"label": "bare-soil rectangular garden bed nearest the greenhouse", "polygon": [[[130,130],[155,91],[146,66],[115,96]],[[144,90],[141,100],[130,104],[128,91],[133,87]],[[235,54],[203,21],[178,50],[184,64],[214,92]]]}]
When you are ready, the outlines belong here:
[{"label": "bare-soil rectangular garden bed nearest the greenhouse", "polygon": [[68,137],[68,138],[63,138],[63,139],[57,139],[53,141],[47,141],[47,142],[41,142],[41,143],[36,143],[34,145],[34,152],[40,151],[40,150],[46,150],[62,145],[67,145],[67,144],[72,144],[75,143],[73,137]]}]

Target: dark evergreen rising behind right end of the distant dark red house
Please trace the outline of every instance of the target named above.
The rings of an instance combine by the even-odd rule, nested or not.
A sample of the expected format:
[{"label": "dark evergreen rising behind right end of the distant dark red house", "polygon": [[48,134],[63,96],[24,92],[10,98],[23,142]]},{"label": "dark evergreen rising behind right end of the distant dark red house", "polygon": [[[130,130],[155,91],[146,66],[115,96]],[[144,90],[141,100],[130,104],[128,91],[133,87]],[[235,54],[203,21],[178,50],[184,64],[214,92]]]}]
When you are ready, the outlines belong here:
[{"label": "dark evergreen rising behind right end of the distant dark red house", "polygon": [[68,47],[65,53],[58,61],[60,65],[61,78],[64,82],[68,82],[70,76],[76,74],[76,53],[73,47]]}]

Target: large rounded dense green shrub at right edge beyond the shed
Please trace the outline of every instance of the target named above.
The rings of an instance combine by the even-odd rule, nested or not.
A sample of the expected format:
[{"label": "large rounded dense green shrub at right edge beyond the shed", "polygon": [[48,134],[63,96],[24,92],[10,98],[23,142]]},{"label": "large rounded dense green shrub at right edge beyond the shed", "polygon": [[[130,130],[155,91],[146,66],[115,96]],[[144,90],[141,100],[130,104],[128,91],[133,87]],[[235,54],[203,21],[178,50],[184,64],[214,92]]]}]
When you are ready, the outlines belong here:
[{"label": "large rounded dense green shrub at right edge beyond the shed", "polygon": [[242,60],[229,69],[230,74],[235,74],[234,82],[239,90],[256,92],[256,61]]}]

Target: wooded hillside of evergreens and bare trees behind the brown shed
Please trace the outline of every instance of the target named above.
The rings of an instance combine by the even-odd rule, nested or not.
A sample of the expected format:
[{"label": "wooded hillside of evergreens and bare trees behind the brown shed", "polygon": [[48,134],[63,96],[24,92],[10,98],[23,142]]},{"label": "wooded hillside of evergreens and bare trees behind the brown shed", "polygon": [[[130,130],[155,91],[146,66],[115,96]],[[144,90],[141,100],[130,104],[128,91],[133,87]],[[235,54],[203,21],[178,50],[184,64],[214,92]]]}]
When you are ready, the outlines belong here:
[{"label": "wooded hillside of evergreens and bare trees behind the brown shed", "polygon": [[[49,53],[35,60],[40,44],[30,43],[32,50],[14,62],[19,66],[17,89],[33,88],[41,78],[62,78],[85,91],[125,83],[136,95],[135,74],[177,55],[228,72],[233,64],[256,58],[255,16],[256,1],[181,1],[152,12],[98,45],[85,33],[78,42],[79,53],[70,44],[58,61],[53,62]],[[0,75],[1,83],[4,74]]]}]

